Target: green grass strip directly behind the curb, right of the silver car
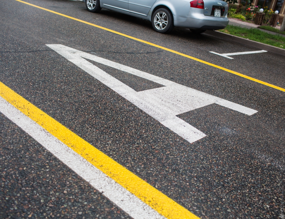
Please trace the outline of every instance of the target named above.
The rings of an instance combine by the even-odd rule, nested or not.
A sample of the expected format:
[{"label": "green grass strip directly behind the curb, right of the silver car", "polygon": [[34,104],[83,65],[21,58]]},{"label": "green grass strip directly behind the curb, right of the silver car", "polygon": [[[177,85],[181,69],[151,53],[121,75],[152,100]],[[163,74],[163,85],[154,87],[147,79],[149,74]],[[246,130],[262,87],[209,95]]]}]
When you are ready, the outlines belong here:
[{"label": "green grass strip directly behind the curb, right of the silver car", "polygon": [[270,33],[263,32],[257,28],[245,28],[234,25],[228,25],[225,29],[219,30],[223,33],[243,37],[246,39],[262,42],[271,46],[279,48],[285,48],[285,37],[281,35],[273,35]]}]

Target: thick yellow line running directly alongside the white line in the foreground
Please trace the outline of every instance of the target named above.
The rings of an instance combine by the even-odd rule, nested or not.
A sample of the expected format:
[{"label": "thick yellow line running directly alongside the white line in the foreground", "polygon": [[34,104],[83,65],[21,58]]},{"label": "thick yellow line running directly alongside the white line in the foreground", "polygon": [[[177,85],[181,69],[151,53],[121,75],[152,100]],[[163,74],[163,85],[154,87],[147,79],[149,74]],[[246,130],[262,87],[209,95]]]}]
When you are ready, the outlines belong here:
[{"label": "thick yellow line running directly alongside the white line in the foreground", "polygon": [[199,219],[0,82],[0,96],[166,218]]}]

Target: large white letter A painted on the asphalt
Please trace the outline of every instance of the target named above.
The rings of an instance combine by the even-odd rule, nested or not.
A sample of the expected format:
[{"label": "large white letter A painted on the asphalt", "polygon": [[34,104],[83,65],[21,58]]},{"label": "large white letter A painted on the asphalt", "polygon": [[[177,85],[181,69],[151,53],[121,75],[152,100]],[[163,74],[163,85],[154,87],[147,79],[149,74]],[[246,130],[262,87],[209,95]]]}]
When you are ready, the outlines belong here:
[{"label": "large white letter A painted on the asphalt", "polygon": [[[129,100],[135,106],[148,113],[148,115],[152,116],[154,119],[190,143],[197,141],[206,135],[192,125],[178,118],[176,116],[178,114],[214,103],[241,113],[245,113],[247,115],[252,115],[257,112],[254,109],[235,104],[210,94],[177,84],[170,80],[166,80],[164,78],[160,78],[152,74],[148,74],[146,72],[142,72],[140,70],[70,48],[68,46],[61,44],[47,44],[47,46],[123,96],[125,99]],[[85,58],[124,72],[128,72],[141,78],[148,79],[158,84],[162,84],[164,87],[136,92],[97,66],[91,64]]]}]

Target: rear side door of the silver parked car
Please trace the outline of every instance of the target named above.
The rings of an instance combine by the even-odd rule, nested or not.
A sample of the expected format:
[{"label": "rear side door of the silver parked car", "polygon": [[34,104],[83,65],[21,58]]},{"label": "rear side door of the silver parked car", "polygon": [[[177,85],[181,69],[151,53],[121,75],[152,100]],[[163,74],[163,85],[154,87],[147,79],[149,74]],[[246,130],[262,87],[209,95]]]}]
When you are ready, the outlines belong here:
[{"label": "rear side door of the silver parked car", "polygon": [[156,0],[129,0],[129,10],[132,13],[146,16]]}]

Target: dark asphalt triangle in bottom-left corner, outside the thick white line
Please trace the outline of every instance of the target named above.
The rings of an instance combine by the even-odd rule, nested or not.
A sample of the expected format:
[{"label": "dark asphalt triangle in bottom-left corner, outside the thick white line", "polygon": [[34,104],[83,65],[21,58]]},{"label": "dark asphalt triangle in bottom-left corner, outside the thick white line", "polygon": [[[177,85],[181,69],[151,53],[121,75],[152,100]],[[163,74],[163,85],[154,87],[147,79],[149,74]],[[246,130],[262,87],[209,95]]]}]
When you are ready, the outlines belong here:
[{"label": "dark asphalt triangle in bottom-left corner, outside the thick white line", "polygon": [[0,114],[0,218],[130,218]]}]

